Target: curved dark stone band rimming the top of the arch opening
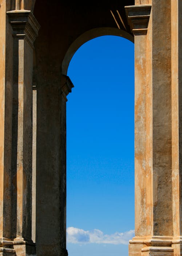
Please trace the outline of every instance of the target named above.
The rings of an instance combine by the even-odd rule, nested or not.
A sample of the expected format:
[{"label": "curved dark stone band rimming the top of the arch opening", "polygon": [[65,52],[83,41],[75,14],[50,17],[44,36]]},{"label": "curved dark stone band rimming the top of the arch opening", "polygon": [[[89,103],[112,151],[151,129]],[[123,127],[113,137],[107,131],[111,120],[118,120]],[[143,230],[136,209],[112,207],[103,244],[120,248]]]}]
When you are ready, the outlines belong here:
[{"label": "curved dark stone band rimming the top of the arch opening", "polygon": [[70,61],[74,55],[74,53],[87,41],[94,39],[96,37],[100,37],[102,35],[117,35],[120,37],[124,37],[131,42],[134,42],[134,37],[121,29],[116,29],[113,27],[99,27],[96,29],[91,29],[80,35],[68,48],[63,62],[62,62],[62,74],[67,75],[68,66],[70,64]]}]

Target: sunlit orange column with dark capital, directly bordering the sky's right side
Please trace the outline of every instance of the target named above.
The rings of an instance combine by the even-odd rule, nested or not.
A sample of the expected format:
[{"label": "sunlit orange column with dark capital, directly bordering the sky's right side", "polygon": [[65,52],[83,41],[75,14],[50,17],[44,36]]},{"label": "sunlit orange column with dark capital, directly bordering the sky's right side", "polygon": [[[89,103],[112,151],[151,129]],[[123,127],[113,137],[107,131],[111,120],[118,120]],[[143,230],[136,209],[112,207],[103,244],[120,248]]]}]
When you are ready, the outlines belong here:
[{"label": "sunlit orange column with dark capital, directly bordering the sky's right side", "polygon": [[[143,237],[151,230],[152,209],[150,169],[147,168],[147,28],[151,5],[125,7],[128,23],[135,36],[135,238],[130,241],[129,255],[141,255]],[[149,107],[149,105],[148,105]],[[150,112],[150,110],[149,110]],[[148,175],[146,176],[146,172]],[[147,216],[147,212],[149,215]]]}]

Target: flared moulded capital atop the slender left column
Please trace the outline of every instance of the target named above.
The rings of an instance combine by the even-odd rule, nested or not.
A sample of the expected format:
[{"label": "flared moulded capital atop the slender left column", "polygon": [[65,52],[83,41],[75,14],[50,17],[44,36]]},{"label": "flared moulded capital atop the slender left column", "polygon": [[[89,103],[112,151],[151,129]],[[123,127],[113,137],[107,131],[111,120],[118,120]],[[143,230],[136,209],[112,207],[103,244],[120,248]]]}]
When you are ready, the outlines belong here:
[{"label": "flared moulded capital atop the slender left column", "polygon": [[29,10],[7,11],[9,22],[13,29],[13,37],[26,38],[33,48],[38,36],[40,25]]}]

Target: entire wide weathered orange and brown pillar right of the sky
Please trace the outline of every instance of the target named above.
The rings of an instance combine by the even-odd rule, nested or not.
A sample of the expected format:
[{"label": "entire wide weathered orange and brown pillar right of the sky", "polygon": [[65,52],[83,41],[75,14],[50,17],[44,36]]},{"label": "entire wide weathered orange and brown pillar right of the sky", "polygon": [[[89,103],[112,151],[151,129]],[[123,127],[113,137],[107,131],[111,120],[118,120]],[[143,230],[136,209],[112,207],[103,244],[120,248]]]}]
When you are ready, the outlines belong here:
[{"label": "entire wide weathered orange and brown pillar right of the sky", "polygon": [[182,255],[182,4],[150,2],[126,7],[135,37],[135,237],[129,255],[177,256]]}]

